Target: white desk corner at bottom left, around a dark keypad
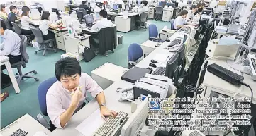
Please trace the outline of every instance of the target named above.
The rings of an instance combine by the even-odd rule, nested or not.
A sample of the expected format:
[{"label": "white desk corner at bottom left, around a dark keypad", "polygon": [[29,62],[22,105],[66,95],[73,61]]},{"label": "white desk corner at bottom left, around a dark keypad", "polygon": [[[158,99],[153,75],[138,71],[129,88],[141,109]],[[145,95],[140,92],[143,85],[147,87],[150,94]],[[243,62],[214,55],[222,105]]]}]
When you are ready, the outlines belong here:
[{"label": "white desk corner at bottom left, around a dark keypad", "polygon": [[38,131],[44,132],[46,135],[50,135],[51,133],[47,128],[38,123],[37,120],[32,118],[30,115],[25,114],[21,118],[18,118],[18,120],[1,129],[1,135],[9,136],[19,128],[28,132],[26,136],[33,136]]}]

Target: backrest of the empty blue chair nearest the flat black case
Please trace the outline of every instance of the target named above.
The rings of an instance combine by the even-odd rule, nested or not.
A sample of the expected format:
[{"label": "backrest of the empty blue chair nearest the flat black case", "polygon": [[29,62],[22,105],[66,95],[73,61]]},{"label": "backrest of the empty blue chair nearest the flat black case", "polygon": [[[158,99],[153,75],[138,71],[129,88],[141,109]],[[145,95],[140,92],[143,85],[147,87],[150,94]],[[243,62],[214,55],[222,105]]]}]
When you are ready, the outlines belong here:
[{"label": "backrest of the empty blue chair nearest the flat black case", "polygon": [[133,43],[128,47],[128,61],[137,61],[143,56],[143,49],[139,44]]}]

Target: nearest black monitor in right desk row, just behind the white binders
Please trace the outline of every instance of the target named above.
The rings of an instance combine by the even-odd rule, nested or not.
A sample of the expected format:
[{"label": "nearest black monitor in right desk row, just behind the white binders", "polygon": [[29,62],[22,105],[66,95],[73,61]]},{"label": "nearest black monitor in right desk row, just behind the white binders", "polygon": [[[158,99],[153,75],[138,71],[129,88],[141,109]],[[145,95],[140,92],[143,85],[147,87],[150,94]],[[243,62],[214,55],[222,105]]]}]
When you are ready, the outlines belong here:
[{"label": "nearest black monitor in right desk row, just behind the white binders", "polygon": [[[176,52],[174,55],[169,58],[169,61],[166,64],[165,76],[168,78],[177,77],[177,72],[179,68],[179,54]],[[175,82],[174,82],[175,83]]]}]

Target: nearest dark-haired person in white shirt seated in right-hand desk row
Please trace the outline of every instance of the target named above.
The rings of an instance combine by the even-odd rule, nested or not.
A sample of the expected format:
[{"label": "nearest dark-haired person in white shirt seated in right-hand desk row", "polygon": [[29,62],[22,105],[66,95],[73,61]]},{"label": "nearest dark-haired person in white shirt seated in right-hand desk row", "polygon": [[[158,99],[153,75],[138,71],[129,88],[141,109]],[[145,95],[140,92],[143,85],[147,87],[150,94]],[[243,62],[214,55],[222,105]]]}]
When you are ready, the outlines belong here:
[{"label": "nearest dark-haired person in white shirt seated in right-hand desk row", "polygon": [[182,27],[189,27],[188,25],[192,25],[191,23],[187,22],[187,20],[186,20],[187,14],[188,14],[188,11],[182,10],[182,12],[180,13],[180,16],[178,16],[174,20],[174,29],[175,30],[179,30]]}]

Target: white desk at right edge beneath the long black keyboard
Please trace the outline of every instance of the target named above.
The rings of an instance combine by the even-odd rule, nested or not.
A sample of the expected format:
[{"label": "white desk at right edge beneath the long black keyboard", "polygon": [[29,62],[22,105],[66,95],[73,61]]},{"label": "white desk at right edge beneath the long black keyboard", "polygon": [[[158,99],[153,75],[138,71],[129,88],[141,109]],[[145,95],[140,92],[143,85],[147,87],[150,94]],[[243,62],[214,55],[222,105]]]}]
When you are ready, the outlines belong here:
[{"label": "white desk at right edge beneath the long black keyboard", "polygon": [[[234,70],[230,66],[228,66],[228,63],[226,60],[216,60],[212,59],[208,61],[208,65],[211,63],[216,63],[219,66],[222,66],[224,68],[227,68],[228,70],[231,70],[235,73],[240,74],[238,71]],[[252,78],[250,78],[250,75],[243,74],[244,82],[247,85],[250,85],[253,91],[256,90],[256,81],[253,81]],[[221,94],[228,95],[230,97],[233,97],[233,95],[238,92],[238,94],[235,96],[235,98],[241,98],[241,97],[251,97],[250,89],[245,87],[244,85],[241,86],[235,86],[230,84],[229,82],[226,82],[226,80],[222,80],[221,78],[218,78],[216,75],[213,75],[212,73],[209,73],[206,70],[206,73],[204,75],[204,82],[202,85],[205,85],[207,87],[206,89],[206,97],[209,96],[211,91],[218,92]],[[256,96],[253,96],[252,103],[256,104]]]}]

